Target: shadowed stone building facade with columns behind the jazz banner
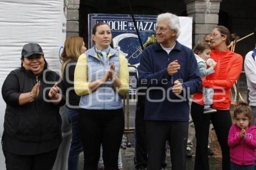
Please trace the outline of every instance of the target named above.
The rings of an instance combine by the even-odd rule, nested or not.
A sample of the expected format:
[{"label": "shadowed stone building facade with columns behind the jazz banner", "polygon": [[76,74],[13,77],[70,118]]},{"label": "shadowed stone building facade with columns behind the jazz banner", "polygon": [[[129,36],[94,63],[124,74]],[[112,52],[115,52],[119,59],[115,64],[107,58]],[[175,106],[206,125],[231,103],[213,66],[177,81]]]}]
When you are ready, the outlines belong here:
[{"label": "shadowed stone building facade with columns behind the jazz banner", "polygon": [[[255,0],[210,0],[210,13],[206,12],[205,0],[158,0],[148,4],[148,0],[130,0],[135,14],[157,15],[171,12],[178,16],[193,17],[192,44],[202,41],[205,34],[216,25],[224,25],[231,33],[240,37],[253,32],[256,25]],[[238,10],[239,9],[239,10]],[[128,2],[111,0],[69,0],[67,9],[67,36],[79,35],[88,42],[89,13],[130,14]],[[87,44],[86,44],[87,45]],[[255,47],[253,36],[242,40],[236,45],[236,52],[242,56]]]}]

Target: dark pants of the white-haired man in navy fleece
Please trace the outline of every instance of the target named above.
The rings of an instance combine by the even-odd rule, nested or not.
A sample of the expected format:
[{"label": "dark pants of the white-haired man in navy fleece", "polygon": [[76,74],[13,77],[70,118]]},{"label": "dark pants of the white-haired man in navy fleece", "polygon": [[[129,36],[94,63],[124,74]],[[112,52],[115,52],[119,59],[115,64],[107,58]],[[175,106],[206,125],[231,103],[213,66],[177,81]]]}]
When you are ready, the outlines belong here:
[{"label": "dark pants of the white-haired man in navy fleece", "polygon": [[186,169],[186,145],[189,122],[146,120],[148,170],[161,169],[162,153],[169,142],[173,170]]}]

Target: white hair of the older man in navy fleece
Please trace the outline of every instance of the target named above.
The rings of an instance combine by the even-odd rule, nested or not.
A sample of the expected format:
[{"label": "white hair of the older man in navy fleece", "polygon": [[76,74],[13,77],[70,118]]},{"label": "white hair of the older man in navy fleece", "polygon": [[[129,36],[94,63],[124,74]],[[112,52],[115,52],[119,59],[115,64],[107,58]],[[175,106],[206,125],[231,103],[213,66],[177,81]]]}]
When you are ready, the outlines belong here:
[{"label": "white hair of the older man in navy fleece", "polygon": [[171,13],[164,13],[164,14],[159,14],[157,16],[157,22],[159,22],[160,20],[168,20],[169,21],[169,27],[170,29],[174,29],[177,31],[176,34],[176,39],[179,37],[180,35],[180,21],[179,21],[179,17],[171,14]]}]

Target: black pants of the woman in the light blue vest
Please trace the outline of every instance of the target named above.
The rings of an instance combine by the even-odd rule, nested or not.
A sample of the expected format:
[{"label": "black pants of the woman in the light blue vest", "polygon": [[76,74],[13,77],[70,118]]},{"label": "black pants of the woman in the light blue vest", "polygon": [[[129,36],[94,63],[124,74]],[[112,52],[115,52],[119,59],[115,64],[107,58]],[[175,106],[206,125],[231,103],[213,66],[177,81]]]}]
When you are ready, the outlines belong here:
[{"label": "black pants of the woman in the light blue vest", "polygon": [[124,130],[123,110],[81,109],[78,124],[84,150],[84,170],[97,170],[101,143],[105,170],[118,170],[118,152]]}]

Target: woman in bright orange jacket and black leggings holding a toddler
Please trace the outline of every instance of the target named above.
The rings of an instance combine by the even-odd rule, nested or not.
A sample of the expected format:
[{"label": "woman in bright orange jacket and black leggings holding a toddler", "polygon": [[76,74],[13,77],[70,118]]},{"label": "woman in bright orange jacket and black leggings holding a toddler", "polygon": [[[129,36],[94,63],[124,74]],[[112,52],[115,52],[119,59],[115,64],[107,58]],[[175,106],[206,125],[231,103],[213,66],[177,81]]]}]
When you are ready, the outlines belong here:
[{"label": "woman in bright orange jacket and black leggings holding a toddler", "polygon": [[202,87],[213,88],[213,108],[217,110],[213,114],[203,114],[203,94],[194,94],[191,105],[191,116],[195,125],[196,154],[195,169],[209,170],[207,144],[210,121],[214,126],[222,151],[222,169],[230,169],[229,146],[227,144],[229,128],[232,125],[229,107],[231,104],[231,87],[242,71],[242,56],[228,50],[227,46],[236,36],[230,35],[224,26],[216,26],[210,34],[211,58],[217,62],[215,73],[210,74],[203,81]]}]

